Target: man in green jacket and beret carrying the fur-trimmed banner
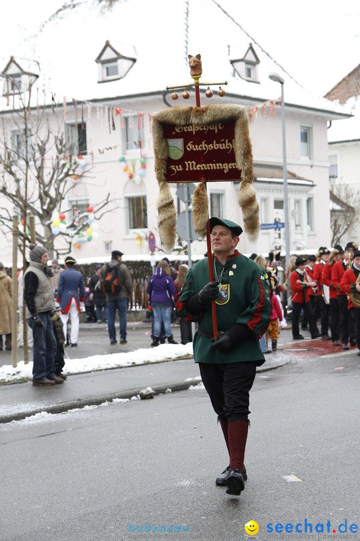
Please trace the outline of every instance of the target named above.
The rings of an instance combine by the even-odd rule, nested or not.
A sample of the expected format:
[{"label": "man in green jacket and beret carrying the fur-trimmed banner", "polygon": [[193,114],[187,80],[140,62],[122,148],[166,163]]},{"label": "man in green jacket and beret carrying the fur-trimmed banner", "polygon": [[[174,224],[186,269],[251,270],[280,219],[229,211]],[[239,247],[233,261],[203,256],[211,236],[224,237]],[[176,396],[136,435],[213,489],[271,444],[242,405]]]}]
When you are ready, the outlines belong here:
[{"label": "man in green jacket and beret carrying the fur-trimmed banner", "polygon": [[[198,323],[194,359],[218,415],[230,464],[216,479],[227,493],[244,490],[244,453],[248,434],[249,391],[256,367],[264,363],[259,338],[270,320],[267,274],[236,250],[242,229],[230,220],[212,217],[210,241],[215,281],[209,282],[207,259],[189,269],[176,295],[176,314]],[[216,303],[219,339],[214,339],[212,301]]]}]

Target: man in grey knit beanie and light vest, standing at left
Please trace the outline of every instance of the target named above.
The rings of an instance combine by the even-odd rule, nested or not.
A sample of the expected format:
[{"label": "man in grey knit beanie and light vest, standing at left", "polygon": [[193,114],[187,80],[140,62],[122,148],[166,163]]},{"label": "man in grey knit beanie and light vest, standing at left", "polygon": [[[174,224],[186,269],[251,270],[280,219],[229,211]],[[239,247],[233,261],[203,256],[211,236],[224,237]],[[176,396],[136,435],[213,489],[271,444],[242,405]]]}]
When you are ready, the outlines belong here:
[{"label": "man in grey knit beanie and light vest, standing at left", "polygon": [[[47,268],[46,248],[30,244],[30,265],[24,273],[24,300],[26,320],[33,335],[32,385],[49,386],[63,383],[55,375],[56,339],[53,333],[52,313],[54,294]],[[49,272],[50,271],[50,272]]]}]

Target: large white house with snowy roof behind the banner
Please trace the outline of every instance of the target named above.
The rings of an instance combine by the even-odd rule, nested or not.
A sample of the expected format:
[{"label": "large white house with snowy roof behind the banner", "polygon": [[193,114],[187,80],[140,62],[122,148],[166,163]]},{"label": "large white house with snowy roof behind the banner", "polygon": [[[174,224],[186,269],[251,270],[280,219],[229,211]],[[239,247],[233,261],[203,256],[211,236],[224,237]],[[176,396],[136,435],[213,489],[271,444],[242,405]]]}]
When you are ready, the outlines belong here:
[{"label": "large white house with snowy roof behind the banner", "polygon": [[[182,3],[178,4],[174,9],[184,15]],[[189,100],[181,98],[181,90],[180,98],[176,102],[171,100],[172,89],[166,90],[169,84],[184,82],[185,88],[186,82],[191,81],[189,68],[179,47],[172,50],[162,49],[159,65],[159,49],[155,47],[155,42],[150,41],[147,47],[143,48],[134,43],[138,53],[133,49],[130,52],[125,51],[117,43],[118,32],[114,23],[120,19],[124,10],[130,12],[132,9],[134,6],[121,3],[114,6],[111,17],[108,15],[101,18],[92,14],[94,21],[97,19],[97,32],[91,32],[89,23],[89,35],[86,37],[89,47],[83,46],[85,55],[81,60],[81,73],[84,76],[81,76],[81,84],[73,80],[73,87],[71,85],[74,61],[69,61],[69,56],[67,63],[62,63],[60,57],[58,58],[58,79],[56,80],[56,75],[53,76],[53,84],[60,85],[59,81],[63,77],[63,81],[66,80],[63,87],[67,87],[64,92],[70,89],[67,96],[77,97],[73,100],[69,97],[57,100],[52,107],[49,104],[49,122],[53,126],[62,127],[65,140],[69,145],[77,147],[76,154],[80,156],[77,178],[71,179],[70,189],[59,202],[58,210],[64,212],[67,222],[70,222],[74,212],[85,215],[87,207],[93,206],[96,209],[97,204],[110,194],[108,206],[95,215],[94,230],[97,234],[91,240],[87,240],[91,235],[85,233],[86,240],[84,236],[79,239],[77,235],[72,239],[71,250],[77,259],[99,259],[110,255],[113,249],[120,249],[124,254],[138,256],[140,259],[149,253],[150,232],[155,234],[160,247],[155,206],[158,183],[154,174],[150,115],[164,107],[195,105],[194,93],[190,89]],[[189,35],[196,26],[194,21],[197,9],[194,3],[193,8],[191,7],[193,13],[190,10],[187,18]],[[249,108],[254,182],[261,223],[265,225],[284,222],[281,108],[279,103],[274,105],[280,95],[280,85],[268,78],[271,71],[277,71],[285,81],[290,249],[296,251],[329,246],[327,127],[329,121],[346,119],[349,116],[347,110],[307,93],[275,61],[269,59],[259,45],[249,44],[248,37],[239,34],[239,28],[235,28],[223,12],[216,11],[213,4],[207,16],[208,28],[214,25],[212,17],[218,18],[217,28],[222,29],[218,42],[222,42],[217,49],[209,44],[208,51],[202,55],[202,78],[205,81],[217,81],[220,77],[220,80],[226,79],[228,84],[224,87],[227,94],[223,98],[216,94],[217,87],[213,87],[214,97],[208,100],[204,89],[201,92],[201,104],[237,103]],[[77,17],[81,19],[81,12],[72,12],[71,17],[73,19],[68,20],[67,24],[71,22],[76,27]],[[52,31],[60,34],[62,24],[64,23],[58,23]],[[51,32],[51,29],[48,28],[47,31]],[[174,34],[174,28],[168,29],[168,32]],[[181,32],[181,29],[176,30],[173,39],[180,39]],[[102,36],[106,36],[106,40]],[[136,36],[133,38],[136,41]],[[237,54],[232,54],[232,50],[226,45],[230,38],[239,43]],[[195,38],[193,42],[192,50],[198,52],[195,48],[199,44]],[[42,43],[38,43],[36,49],[40,65],[42,60],[44,64],[49,62]],[[64,48],[66,47],[68,45],[64,43]],[[15,54],[16,51],[14,56]],[[18,64],[21,65],[21,62]],[[164,65],[166,69],[162,69]],[[214,75],[212,79],[212,74],[218,75]],[[0,118],[5,119],[8,130],[16,131],[16,122],[10,110],[11,104],[6,105],[4,102]],[[35,111],[33,114],[36,114]],[[126,167],[128,169],[125,171]],[[242,224],[241,210],[237,204],[238,189],[237,183],[209,183],[210,216],[220,215]],[[184,210],[184,203],[176,199],[175,191],[173,187],[175,206],[178,212],[181,212]],[[9,206],[9,202],[2,199],[1,206],[6,205]],[[42,227],[39,220],[36,227]],[[283,235],[283,228],[262,229],[256,243],[250,243],[247,237],[242,235],[239,248],[243,253],[266,253],[277,246],[284,249]],[[0,245],[3,259],[10,259],[9,237],[2,235]],[[179,249],[175,253],[179,252],[180,246],[179,239]],[[56,247],[63,253],[67,249],[67,242],[61,235],[56,239]],[[200,255],[204,252],[204,241],[193,242],[193,254]]]}]

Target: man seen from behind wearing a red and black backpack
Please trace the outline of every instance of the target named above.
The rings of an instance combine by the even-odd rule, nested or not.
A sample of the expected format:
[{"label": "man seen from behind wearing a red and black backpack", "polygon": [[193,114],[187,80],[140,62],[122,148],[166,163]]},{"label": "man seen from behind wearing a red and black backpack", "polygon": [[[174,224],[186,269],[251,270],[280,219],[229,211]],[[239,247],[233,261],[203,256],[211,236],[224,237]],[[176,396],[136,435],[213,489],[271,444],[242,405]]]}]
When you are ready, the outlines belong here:
[{"label": "man seen from behind wearing a red and black backpack", "polygon": [[130,271],[121,258],[123,252],[113,250],[110,263],[105,263],[101,269],[100,289],[106,293],[108,308],[107,329],[110,344],[116,344],[115,318],[119,314],[120,344],[126,344],[126,311],[128,299],[131,295],[132,280]]}]

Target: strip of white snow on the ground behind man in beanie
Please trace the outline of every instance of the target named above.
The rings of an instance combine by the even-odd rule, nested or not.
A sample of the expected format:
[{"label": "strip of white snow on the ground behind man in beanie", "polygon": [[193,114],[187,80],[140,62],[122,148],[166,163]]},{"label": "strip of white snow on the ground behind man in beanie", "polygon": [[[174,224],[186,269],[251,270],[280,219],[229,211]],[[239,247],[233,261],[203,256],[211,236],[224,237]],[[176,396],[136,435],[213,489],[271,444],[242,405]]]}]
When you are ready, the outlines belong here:
[{"label": "strip of white snow on the ground behind man in beanie", "polygon": [[[108,355],[93,355],[84,359],[66,359],[64,374],[81,374],[108,368],[145,365],[152,362],[175,360],[185,355],[193,355],[193,344],[160,344],[154,348],[141,348],[127,353],[110,353]],[[16,368],[11,365],[0,366],[0,383],[24,379],[32,379],[32,361],[24,364],[19,361]]]}]

